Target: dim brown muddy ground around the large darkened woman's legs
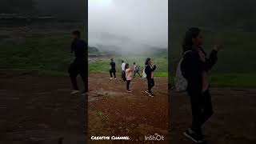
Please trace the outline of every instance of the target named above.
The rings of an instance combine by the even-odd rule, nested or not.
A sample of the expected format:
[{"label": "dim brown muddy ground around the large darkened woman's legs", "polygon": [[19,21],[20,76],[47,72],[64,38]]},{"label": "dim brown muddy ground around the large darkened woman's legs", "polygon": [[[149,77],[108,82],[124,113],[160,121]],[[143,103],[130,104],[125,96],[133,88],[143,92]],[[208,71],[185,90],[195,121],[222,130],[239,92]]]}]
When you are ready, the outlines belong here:
[{"label": "dim brown muddy ground around the large darkened woman's legs", "polygon": [[[256,90],[213,88],[210,90],[214,115],[203,132],[209,144],[256,143]],[[191,125],[190,98],[170,91],[171,142],[191,144],[182,132]]]}]

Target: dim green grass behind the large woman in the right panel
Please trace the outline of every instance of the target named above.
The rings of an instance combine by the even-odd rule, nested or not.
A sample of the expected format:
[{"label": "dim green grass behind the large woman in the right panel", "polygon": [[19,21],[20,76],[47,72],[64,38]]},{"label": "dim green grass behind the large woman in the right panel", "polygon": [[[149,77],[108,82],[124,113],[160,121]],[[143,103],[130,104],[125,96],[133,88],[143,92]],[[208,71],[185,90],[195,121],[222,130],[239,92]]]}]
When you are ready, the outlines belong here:
[{"label": "dim green grass behind the large woman in the right panel", "polygon": [[[218,62],[210,70],[211,86],[256,87],[256,33],[246,32],[235,27],[200,27],[207,53],[212,50],[216,39],[222,42]],[[172,27],[170,55],[170,75],[175,74],[178,61],[182,57],[182,38],[186,27]],[[169,80],[173,84],[173,78]]]}]

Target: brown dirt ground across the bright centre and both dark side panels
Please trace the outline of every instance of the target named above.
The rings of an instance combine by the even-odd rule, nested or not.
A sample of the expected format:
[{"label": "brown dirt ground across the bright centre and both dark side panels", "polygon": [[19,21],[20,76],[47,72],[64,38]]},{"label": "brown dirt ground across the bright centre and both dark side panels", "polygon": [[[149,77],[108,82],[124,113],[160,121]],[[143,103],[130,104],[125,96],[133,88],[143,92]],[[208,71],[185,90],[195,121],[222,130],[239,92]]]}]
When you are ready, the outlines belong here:
[{"label": "brown dirt ground across the bright centre and both dark side panels", "polygon": [[[146,143],[145,134],[167,135],[166,78],[155,79],[155,98],[142,91],[144,79],[131,83],[132,94],[107,74],[90,75],[89,81],[90,135],[129,135],[133,140],[112,143]],[[209,143],[255,144],[256,90],[212,89],[211,94],[215,113],[204,130]],[[189,98],[174,91],[170,95],[170,140],[190,144],[182,136],[190,126]],[[70,95],[69,78],[0,70],[0,143],[56,144],[60,137],[64,144],[85,143],[85,102],[81,95]]]}]

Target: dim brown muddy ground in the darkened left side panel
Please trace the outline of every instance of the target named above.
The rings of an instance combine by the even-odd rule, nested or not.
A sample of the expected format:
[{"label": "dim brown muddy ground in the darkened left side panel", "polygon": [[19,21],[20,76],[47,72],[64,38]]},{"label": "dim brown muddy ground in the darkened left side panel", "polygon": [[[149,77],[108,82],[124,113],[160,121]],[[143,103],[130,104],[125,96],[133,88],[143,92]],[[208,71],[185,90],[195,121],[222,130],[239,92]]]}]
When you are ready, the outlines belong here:
[{"label": "dim brown muddy ground in the darkened left side panel", "polygon": [[0,143],[84,143],[86,101],[68,77],[0,70]]}]

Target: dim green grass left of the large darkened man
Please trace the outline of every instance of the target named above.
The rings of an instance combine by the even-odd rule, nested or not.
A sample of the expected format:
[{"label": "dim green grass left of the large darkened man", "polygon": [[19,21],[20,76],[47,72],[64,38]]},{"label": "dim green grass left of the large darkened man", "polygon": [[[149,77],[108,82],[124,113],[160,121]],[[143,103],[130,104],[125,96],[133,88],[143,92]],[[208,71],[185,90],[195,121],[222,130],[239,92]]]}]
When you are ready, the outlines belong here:
[{"label": "dim green grass left of the large darkened man", "polygon": [[63,72],[72,61],[69,34],[25,38],[22,42],[0,42],[0,68]]}]

